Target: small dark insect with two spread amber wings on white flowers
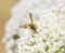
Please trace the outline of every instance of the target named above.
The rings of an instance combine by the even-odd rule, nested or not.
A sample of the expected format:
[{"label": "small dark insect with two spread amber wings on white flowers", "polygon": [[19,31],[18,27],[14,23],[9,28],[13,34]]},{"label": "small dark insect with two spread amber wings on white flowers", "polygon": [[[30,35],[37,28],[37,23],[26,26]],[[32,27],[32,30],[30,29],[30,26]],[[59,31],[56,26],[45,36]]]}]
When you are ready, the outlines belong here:
[{"label": "small dark insect with two spread amber wings on white flowers", "polygon": [[20,26],[20,27],[21,27],[21,28],[30,28],[31,31],[37,32],[37,26],[34,24],[31,13],[29,13],[29,16],[30,16],[30,24],[28,24],[28,25],[26,25],[26,26]]}]

